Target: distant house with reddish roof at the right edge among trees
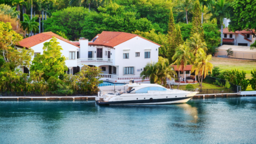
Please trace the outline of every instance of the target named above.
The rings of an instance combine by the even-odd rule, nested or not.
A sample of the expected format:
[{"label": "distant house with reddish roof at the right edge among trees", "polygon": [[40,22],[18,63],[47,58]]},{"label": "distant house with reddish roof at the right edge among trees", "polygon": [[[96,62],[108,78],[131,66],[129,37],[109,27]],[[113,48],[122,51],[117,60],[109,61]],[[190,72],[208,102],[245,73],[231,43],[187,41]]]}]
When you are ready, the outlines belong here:
[{"label": "distant house with reddish roof at the right edge among trees", "polygon": [[255,30],[229,31],[223,28],[222,44],[234,46],[251,46],[255,42]]}]

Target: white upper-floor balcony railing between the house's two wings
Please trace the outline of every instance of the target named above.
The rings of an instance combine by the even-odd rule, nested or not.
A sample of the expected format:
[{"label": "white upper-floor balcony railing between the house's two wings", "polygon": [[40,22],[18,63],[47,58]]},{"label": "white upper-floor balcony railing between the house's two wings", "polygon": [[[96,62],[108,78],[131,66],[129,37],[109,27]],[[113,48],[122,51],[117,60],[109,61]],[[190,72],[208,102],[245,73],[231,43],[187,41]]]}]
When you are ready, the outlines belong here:
[{"label": "white upper-floor balcony railing between the house's two wings", "polygon": [[81,58],[77,60],[78,64],[81,63],[113,63],[113,59],[108,58]]}]

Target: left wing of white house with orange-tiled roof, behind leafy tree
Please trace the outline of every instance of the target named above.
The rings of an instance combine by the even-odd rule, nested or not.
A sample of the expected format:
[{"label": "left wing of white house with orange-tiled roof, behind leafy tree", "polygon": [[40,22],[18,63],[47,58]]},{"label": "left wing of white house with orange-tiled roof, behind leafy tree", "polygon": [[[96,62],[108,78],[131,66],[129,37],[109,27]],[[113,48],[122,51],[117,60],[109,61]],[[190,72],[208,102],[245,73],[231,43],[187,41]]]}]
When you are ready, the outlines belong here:
[{"label": "left wing of white house with orange-tiled roof, behind leafy tree", "polygon": [[[63,49],[61,51],[62,55],[68,57],[68,60],[65,61],[66,66],[68,66],[69,68],[68,73],[77,71],[77,52],[79,52],[79,46],[73,44],[69,40],[64,39],[63,37],[58,36],[55,33],[46,32],[36,34],[34,36],[21,40],[20,44],[16,45],[15,47],[17,47],[18,49],[23,49],[23,47],[25,47],[25,49],[33,49],[34,55],[31,59],[33,60],[36,55],[43,54],[43,44],[45,42],[49,42],[52,37],[56,37],[57,41],[60,43],[59,45]],[[29,73],[29,68],[22,66],[21,71],[23,71],[24,73]]]}]

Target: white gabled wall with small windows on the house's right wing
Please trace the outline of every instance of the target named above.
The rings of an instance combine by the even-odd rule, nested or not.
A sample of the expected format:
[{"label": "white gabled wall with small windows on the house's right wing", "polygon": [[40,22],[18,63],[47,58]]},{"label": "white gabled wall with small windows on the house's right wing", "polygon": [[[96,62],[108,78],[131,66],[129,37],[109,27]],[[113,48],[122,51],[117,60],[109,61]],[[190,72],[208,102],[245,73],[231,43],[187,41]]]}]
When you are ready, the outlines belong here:
[{"label": "white gabled wall with small windows on the house's right wing", "polygon": [[[115,46],[116,55],[114,55],[113,65],[117,66],[118,75],[124,75],[124,67],[134,67],[134,75],[140,75],[140,72],[143,71],[147,63],[158,62],[159,47],[157,44],[140,37],[134,37]],[[140,57],[135,57],[136,52],[140,52]],[[145,52],[151,52],[151,58],[145,59]],[[129,59],[123,59],[123,53],[129,53]],[[137,71],[138,69],[139,71]]]}]

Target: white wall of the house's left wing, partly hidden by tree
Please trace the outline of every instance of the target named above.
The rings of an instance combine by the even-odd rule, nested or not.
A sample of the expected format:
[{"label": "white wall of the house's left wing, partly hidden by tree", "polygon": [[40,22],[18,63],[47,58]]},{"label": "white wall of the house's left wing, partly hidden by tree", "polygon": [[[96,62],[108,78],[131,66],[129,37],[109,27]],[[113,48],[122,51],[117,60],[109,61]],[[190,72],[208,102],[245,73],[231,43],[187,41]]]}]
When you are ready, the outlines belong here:
[{"label": "white wall of the house's left wing, partly hidden by tree", "polygon": [[[51,39],[43,41],[40,44],[37,44],[36,46],[31,47],[31,49],[34,50],[34,53],[40,53],[40,55],[43,55],[43,44],[45,42],[49,42]],[[76,67],[77,66],[77,51],[79,50],[79,47],[73,46],[72,44],[67,43],[66,41],[57,39],[57,41],[60,43],[59,45],[62,47],[63,50],[62,55],[67,57],[68,60],[65,60],[66,66],[68,67]],[[69,52],[75,52],[75,59],[69,60]],[[34,55],[31,57],[31,61],[34,59]]]}]

